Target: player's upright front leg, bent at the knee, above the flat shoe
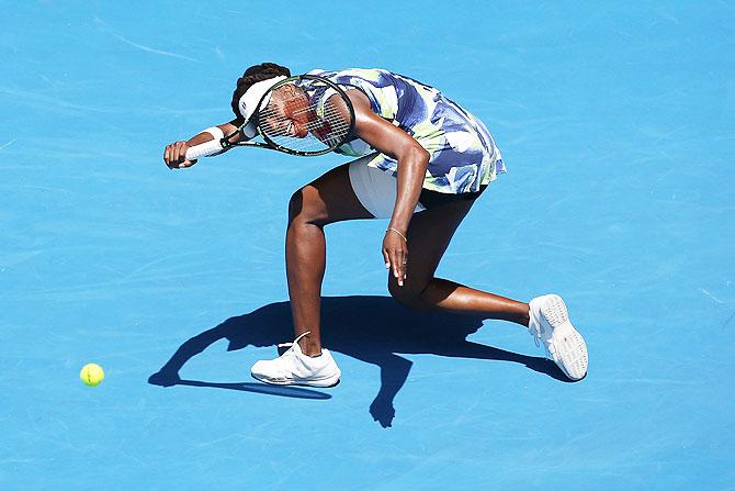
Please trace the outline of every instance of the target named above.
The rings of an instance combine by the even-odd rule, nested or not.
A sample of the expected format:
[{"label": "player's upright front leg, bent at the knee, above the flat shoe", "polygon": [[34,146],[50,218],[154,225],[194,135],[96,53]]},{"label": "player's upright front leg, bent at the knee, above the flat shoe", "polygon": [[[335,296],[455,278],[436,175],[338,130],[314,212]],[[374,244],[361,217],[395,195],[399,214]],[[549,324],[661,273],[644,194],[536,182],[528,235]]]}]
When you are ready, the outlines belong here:
[{"label": "player's upright front leg, bent at the knee, above the flat shoe", "polygon": [[372,219],[352,191],[348,164],[296,191],[289,203],[286,274],[296,337],[305,355],[321,351],[319,303],[326,261],[324,226],[344,220]]}]

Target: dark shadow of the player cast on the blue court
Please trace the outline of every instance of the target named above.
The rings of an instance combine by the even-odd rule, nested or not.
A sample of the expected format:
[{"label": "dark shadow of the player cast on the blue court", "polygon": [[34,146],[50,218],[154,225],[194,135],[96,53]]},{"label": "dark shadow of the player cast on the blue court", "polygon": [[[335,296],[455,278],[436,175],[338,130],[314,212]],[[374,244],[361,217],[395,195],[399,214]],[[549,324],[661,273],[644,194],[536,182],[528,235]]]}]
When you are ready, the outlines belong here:
[{"label": "dark shadow of the player cast on the blue court", "polygon": [[[383,427],[391,426],[393,422],[393,401],[406,382],[412,365],[398,354],[509,361],[568,381],[558,367],[546,358],[519,355],[467,341],[466,337],[483,325],[482,321],[482,317],[476,316],[408,310],[389,297],[325,297],[321,300],[323,345],[381,369],[381,389],[370,405],[370,413]],[[519,335],[523,333],[519,332]],[[165,387],[217,387],[294,398],[329,399],[324,392],[295,387],[211,383],[179,378],[179,370],[189,359],[223,338],[229,341],[228,351],[248,345],[273,346],[291,341],[293,330],[289,302],[271,303],[249,314],[230,317],[192,337],[148,381]]]}]

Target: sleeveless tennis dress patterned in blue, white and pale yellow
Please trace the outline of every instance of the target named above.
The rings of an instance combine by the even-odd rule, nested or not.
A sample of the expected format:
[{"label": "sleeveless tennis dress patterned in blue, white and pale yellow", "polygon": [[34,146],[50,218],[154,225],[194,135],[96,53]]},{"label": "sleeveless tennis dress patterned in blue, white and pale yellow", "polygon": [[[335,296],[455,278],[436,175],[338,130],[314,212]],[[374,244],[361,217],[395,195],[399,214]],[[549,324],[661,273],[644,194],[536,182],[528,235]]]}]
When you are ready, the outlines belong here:
[{"label": "sleeveless tennis dress patterned in blue, white and pale yellow", "polygon": [[[328,78],[346,90],[361,90],[377,115],[416,138],[431,155],[425,189],[474,192],[506,171],[500,150],[483,122],[433,87],[377,68],[312,70],[309,75]],[[369,166],[397,174],[397,160],[376,153],[362,140],[348,142],[337,152],[353,157],[375,154]]]}]

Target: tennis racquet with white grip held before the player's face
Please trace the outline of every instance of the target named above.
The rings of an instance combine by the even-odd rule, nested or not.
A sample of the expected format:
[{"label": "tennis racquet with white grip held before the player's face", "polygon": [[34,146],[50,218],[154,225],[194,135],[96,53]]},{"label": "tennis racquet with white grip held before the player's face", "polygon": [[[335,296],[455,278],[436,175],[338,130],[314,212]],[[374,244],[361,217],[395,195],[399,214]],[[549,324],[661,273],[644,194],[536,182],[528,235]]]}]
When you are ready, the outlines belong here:
[{"label": "tennis racquet with white grip held before the player's face", "polygon": [[[238,134],[245,136],[249,125],[255,125],[253,138],[233,142]],[[186,159],[218,154],[234,146],[299,156],[324,155],[352,138],[353,131],[354,108],[344,90],[324,77],[301,75],[276,82],[237,131],[219,141],[189,148]]]}]

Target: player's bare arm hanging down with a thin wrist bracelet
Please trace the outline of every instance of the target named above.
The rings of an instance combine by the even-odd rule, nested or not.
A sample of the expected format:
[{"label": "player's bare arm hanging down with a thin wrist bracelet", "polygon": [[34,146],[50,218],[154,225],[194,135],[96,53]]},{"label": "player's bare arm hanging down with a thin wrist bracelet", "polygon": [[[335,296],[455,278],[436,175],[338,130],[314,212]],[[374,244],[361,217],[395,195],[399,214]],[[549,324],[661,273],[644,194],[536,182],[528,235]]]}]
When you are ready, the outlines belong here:
[{"label": "player's bare arm hanging down with a thin wrist bracelet", "polygon": [[383,258],[386,267],[393,267],[398,284],[403,286],[408,255],[406,232],[421,193],[430,156],[408,133],[375,114],[365,94],[350,90],[348,97],[354,107],[357,135],[373,148],[398,160],[397,197],[388,228],[399,234],[386,233]]}]

